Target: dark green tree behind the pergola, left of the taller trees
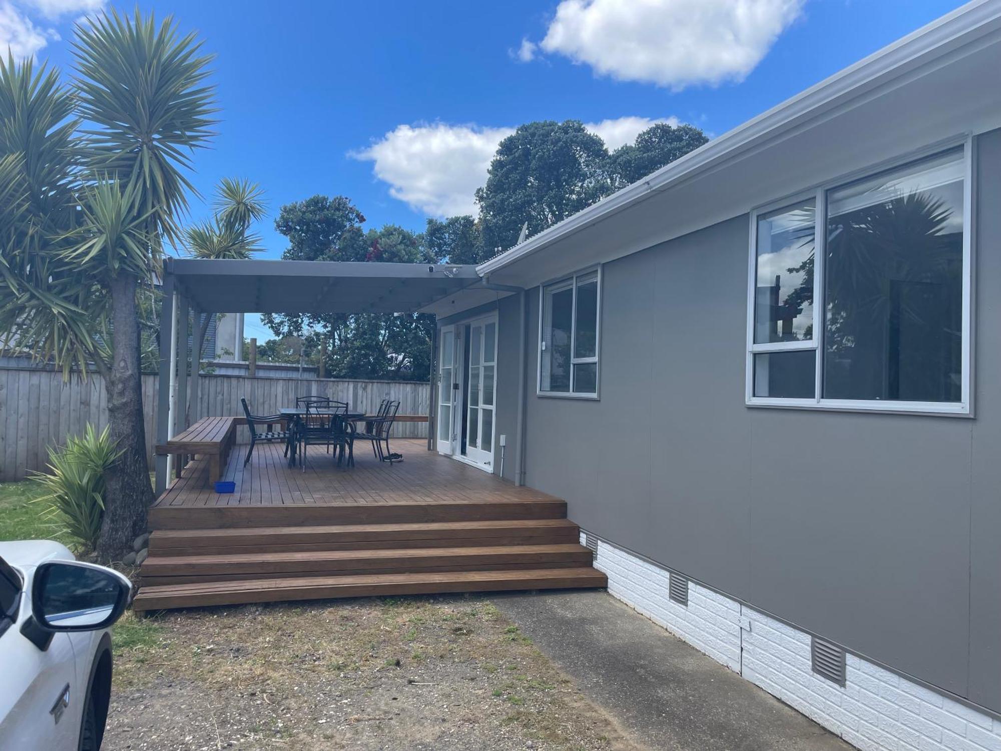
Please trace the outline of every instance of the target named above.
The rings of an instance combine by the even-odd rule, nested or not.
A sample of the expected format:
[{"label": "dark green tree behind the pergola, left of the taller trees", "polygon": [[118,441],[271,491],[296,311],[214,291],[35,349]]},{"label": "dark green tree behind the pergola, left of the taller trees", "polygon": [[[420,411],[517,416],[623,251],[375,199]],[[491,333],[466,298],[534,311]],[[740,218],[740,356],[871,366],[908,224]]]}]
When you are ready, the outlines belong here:
[{"label": "dark green tree behind the pergola, left of the taller trees", "polygon": [[[409,230],[386,224],[365,230],[364,216],[344,196],[314,195],[281,207],[275,228],[289,241],[286,260],[434,263],[437,258]],[[430,371],[433,318],[408,313],[265,313],[276,336],[301,336],[307,356],[325,343],[331,378],[423,381]]]}]

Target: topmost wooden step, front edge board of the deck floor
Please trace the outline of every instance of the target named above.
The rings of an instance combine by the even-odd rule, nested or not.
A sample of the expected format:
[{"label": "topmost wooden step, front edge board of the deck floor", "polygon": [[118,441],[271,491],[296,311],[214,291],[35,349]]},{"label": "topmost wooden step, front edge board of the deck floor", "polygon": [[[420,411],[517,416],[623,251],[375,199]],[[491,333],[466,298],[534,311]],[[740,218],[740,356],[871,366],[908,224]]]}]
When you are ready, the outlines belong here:
[{"label": "topmost wooden step, front edge board of the deck floor", "polygon": [[[502,495],[503,494],[497,494]],[[234,502],[235,503],[235,502]],[[515,519],[566,519],[567,502],[477,501],[447,503],[284,504],[273,506],[154,506],[151,530],[317,527],[353,524],[429,524]]]}]

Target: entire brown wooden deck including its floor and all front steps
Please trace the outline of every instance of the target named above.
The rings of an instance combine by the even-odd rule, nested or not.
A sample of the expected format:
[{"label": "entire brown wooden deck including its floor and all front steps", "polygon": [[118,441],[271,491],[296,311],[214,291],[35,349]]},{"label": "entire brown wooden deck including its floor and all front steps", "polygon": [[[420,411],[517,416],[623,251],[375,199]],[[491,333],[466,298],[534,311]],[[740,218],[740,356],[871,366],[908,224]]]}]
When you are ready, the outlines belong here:
[{"label": "entire brown wooden deck including its floor and all front steps", "polygon": [[567,503],[391,441],[389,465],[355,447],[336,467],[309,447],[306,470],[278,444],[230,453],[215,493],[207,465],[185,468],[150,510],[138,611],[438,592],[604,587]]}]

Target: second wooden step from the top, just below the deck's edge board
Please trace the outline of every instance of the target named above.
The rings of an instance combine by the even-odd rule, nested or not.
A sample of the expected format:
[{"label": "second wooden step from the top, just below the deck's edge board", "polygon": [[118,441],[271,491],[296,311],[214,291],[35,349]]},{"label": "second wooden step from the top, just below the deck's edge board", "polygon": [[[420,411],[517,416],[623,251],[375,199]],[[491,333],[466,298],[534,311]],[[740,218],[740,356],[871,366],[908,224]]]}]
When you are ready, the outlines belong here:
[{"label": "second wooden step from the top, just below the deck's edge board", "polygon": [[291,553],[396,548],[468,548],[578,542],[580,529],[566,519],[513,519],[425,524],[353,524],[225,530],[157,530],[151,556],[209,553]]}]

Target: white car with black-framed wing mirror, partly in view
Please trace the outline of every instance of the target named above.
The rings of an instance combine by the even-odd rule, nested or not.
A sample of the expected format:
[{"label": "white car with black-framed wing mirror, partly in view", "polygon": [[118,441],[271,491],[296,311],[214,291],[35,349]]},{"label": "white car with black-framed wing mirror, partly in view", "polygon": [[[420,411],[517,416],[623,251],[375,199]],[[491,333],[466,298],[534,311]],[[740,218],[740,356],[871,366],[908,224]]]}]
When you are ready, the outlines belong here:
[{"label": "white car with black-framed wing mirror, partly in view", "polygon": [[0,543],[0,749],[100,749],[131,589],[59,543]]}]

